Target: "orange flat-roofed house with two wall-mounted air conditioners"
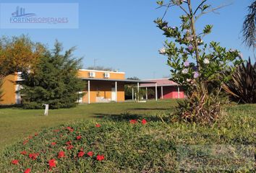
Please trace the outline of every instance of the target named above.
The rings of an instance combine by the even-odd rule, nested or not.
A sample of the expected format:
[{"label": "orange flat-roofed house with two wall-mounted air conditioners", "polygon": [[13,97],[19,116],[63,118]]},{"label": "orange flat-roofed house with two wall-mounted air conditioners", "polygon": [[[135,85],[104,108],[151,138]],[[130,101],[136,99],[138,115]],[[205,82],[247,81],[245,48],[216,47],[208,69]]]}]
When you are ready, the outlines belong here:
[{"label": "orange flat-roofed house with two wall-mounted air conditioners", "polygon": [[78,77],[88,83],[85,95],[79,99],[82,103],[124,102],[124,85],[147,82],[125,79],[125,73],[119,71],[80,69]]}]

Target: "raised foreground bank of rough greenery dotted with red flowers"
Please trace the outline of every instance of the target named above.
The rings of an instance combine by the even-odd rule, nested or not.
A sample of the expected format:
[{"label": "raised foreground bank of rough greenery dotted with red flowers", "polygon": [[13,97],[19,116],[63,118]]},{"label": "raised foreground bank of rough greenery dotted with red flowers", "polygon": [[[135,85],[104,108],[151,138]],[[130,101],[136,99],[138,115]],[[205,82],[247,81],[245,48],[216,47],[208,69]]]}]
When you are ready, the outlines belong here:
[{"label": "raised foreground bank of rough greenery dotted with red flowers", "polygon": [[[181,155],[184,146],[255,146],[254,110],[255,105],[228,109],[228,115],[211,127],[163,123],[168,115],[160,118],[128,113],[108,115],[97,122],[60,125],[6,148],[0,156],[0,169],[1,172],[189,172],[191,168],[181,164],[187,161]],[[208,154],[198,148],[193,152],[192,156]],[[195,172],[203,172],[202,169],[219,172],[225,165],[232,172],[232,164],[239,170],[255,171],[255,160],[244,161],[234,148],[231,153],[236,157],[206,159],[204,167]]]}]

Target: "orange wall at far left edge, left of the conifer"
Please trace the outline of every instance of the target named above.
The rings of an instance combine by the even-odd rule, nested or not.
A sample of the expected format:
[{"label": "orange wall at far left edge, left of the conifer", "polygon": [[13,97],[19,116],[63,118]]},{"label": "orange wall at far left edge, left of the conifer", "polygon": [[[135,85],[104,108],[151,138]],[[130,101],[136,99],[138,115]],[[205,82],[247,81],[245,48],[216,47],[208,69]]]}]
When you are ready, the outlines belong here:
[{"label": "orange wall at far left edge, left of the conifer", "polygon": [[3,90],[4,96],[1,97],[2,101],[0,101],[1,105],[12,105],[16,103],[15,99],[15,81],[17,81],[17,75],[9,75],[4,78],[4,84],[1,87]]}]

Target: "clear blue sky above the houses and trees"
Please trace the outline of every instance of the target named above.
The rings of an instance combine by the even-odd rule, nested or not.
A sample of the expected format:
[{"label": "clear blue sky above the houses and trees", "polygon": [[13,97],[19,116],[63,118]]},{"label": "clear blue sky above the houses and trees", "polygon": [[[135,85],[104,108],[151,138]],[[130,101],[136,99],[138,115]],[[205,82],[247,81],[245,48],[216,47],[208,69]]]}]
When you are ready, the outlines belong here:
[{"label": "clear blue sky above the houses and trees", "polygon": [[[58,39],[64,48],[77,46],[74,56],[83,57],[83,66],[106,66],[126,72],[127,77],[140,79],[161,78],[169,75],[166,57],[158,54],[166,39],[155,27],[154,19],[162,17],[163,9],[155,0],[80,0],[80,1],[4,1],[1,3],[79,3],[78,29],[1,29],[1,35],[29,35],[52,48]],[[198,1],[200,2],[200,1]],[[253,57],[252,50],[242,44],[242,22],[250,0],[209,0],[213,6],[229,4],[219,14],[206,14],[198,20],[198,30],[205,24],[213,25],[213,32],[205,41],[221,42],[226,48],[241,50],[244,58]],[[197,4],[197,3],[195,3]],[[47,9],[46,9],[47,10]],[[56,9],[61,10],[61,9]],[[180,11],[171,9],[166,14],[169,25],[179,26]]]}]

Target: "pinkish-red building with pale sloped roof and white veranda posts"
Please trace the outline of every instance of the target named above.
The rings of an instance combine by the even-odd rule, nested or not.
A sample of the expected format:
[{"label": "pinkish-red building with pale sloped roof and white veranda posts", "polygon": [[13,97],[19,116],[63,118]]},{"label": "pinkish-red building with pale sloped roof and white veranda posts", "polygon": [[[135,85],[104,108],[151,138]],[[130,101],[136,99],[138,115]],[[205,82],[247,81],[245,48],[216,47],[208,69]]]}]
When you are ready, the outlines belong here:
[{"label": "pinkish-red building with pale sloped roof and white veranda posts", "polygon": [[174,81],[170,81],[169,79],[147,79],[142,80],[143,82],[150,83],[142,83],[140,84],[140,88],[152,89],[156,92],[155,95],[147,94],[145,99],[182,99],[184,98],[184,90],[182,86],[179,86]]}]

